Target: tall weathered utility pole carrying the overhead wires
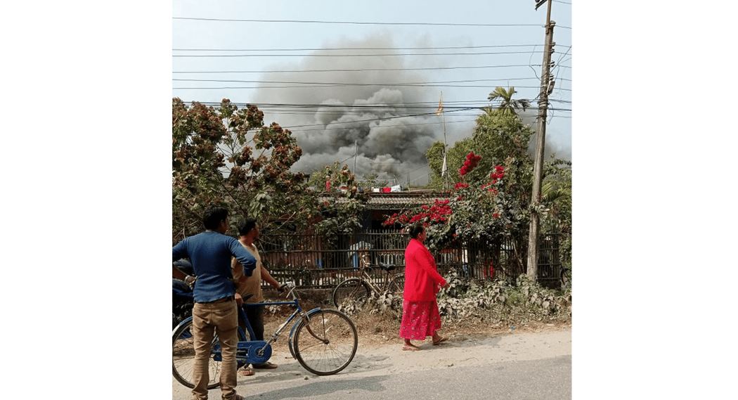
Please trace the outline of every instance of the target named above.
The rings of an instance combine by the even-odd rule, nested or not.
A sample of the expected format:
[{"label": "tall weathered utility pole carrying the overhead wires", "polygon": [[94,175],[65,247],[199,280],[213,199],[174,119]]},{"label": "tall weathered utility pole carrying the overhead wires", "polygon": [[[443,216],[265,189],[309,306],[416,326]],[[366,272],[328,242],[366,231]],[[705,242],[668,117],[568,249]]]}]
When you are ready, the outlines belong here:
[{"label": "tall weathered utility pole carrying the overhead wires", "polygon": [[[535,0],[536,10],[546,0]],[[541,181],[543,180],[543,149],[546,137],[546,111],[548,110],[549,89],[553,89],[551,77],[551,54],[554,52],[554,25],[551,21],[551,0],[548,0],[546,14],[546,38],[543,50],[543,66],[541,69],[541,92],[538,100],[538,134],[536,135],[536,154],[533,167],[533,194],[531,196],[531,229],[528,233],[528,277],[536,282],[538,279],[538,232],[540,230],[539,208],[541,205]]]}]

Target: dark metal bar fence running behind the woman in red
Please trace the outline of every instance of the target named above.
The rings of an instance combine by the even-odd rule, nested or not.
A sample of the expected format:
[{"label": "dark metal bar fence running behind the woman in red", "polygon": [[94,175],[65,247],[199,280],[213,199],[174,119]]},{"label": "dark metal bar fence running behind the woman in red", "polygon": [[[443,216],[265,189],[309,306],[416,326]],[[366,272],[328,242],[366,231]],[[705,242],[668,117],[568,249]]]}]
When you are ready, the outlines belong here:
[{"label": "dark metal bar fence running behind the woman in red", "polygon": [[[294,282],[303,289],[331,289],[346,277],[358,275],[359,257],[368,257],[371,265],[396,266],[404,272],[404,252],[409,237],[397,230],[368,230],[354,235],[322,238],[320,235],[262,235],[259,252],[263,265],[276,280]],[[514,281],[526,272],[527,236],[517,241],[497,243],[454,243],[431,251],[441,275],[460,275]],[[556,286],[561,273],[559,235],[539,237],[538,280]],[[373,279],[384,280],[375,270]]]}]

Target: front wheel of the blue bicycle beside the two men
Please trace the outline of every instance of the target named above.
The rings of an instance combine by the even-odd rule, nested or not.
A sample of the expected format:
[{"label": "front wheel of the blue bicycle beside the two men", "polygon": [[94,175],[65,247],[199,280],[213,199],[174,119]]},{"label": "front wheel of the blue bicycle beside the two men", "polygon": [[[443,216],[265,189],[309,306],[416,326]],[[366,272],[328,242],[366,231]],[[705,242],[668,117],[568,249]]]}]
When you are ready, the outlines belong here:
[{"label": "front wheel of the blue bicycle beside the two men", "polygon": [[321,309],[301,320],[294,332],[294,356],[316,375],[332,375],[346,368],[356,355],[359,336],[351,318],[341,311]]}]

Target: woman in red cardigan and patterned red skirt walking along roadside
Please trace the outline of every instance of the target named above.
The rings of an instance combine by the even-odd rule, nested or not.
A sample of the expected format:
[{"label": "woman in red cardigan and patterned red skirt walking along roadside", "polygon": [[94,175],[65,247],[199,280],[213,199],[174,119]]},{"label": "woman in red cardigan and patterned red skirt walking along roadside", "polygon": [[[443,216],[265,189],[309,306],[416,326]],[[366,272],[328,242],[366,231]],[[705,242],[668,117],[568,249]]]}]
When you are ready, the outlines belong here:
[{"label": "woman in red cardigan and patterned red skirt walking along roadside", "polygon": [[425,340],[432,337],[433,345],[446,341],[438,334],[441,314],[435,295],[442,287],[448,287],[444,277],[438,273],[435,259],[423,242],[426,230],[423,224],[410,225],[410,243],[405,249],[405,287],[402,300],[402,322],[400,337],[404,339],[402,350],[418,351],[420,348],[410,340]]}]

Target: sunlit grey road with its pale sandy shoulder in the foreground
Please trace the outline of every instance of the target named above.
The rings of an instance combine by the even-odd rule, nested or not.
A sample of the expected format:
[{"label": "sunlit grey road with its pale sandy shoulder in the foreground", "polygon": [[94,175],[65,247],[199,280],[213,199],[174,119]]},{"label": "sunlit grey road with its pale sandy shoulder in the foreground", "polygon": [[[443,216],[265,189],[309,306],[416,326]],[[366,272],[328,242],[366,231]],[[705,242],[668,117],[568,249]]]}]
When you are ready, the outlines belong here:
[{"label": "sunlit grey road with its pale sandy shoulder in the foreground", "polygon": [[[351,365],[334,376],[314,376],[277,354],[279,368],[238,379],[246,399],[571,399],[571,331],[516,333],[482,339],[452,337],[446,345],[399,351],[359,346]],[[173,399],[190,399],[172,380]],[[210,391],[211,399],[220,390]]]}]

